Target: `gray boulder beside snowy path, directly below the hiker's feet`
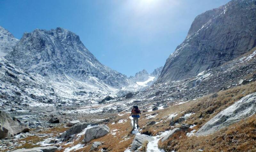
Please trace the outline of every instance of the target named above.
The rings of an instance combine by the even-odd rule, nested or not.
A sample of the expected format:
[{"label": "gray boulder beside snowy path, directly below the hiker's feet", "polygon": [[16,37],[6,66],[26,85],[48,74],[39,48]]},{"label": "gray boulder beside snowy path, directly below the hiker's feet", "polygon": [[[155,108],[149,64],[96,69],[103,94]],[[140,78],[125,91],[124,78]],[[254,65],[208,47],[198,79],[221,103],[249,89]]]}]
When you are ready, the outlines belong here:
[{"label": "gray boulder beside snowy path, directly below the hiker's feet", "polygon": [[142,146],[142,144],[145,141],[151,142],[151,141],[154,141],[154,138],[146,134],[136,134],[135,138],[132,141],[131,150],[132,151],[137,150],[140,146]]}]

